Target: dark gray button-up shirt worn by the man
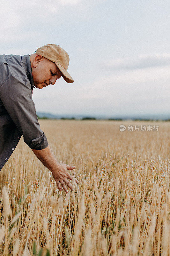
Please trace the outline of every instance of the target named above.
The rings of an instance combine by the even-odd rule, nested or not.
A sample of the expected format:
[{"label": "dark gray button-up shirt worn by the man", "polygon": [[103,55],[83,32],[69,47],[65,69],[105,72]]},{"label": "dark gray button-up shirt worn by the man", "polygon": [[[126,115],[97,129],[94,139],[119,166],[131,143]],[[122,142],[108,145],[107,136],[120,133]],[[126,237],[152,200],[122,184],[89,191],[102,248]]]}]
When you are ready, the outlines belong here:
[{"label": "dark gray button-up shirt worn by the man", "polygon": [[0,55],[0,170],[21,135],[32,149],[48,146],[32,100],[33,87],[29,54]]}]

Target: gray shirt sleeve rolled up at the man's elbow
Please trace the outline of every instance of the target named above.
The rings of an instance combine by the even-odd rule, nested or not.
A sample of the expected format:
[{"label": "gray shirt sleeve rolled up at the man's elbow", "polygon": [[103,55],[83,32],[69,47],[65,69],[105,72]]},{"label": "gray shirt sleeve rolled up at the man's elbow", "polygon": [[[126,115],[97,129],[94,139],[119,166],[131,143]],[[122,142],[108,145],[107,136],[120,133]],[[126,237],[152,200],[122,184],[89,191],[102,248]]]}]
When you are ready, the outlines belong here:
[{"label": "gray shirt sleeve rolled up at the man's elbow", "polygon": [[8,77],[0,85],[0,99],[28,147],[32,149],[47,148],[48,141],[40,129],[28,78]]}]

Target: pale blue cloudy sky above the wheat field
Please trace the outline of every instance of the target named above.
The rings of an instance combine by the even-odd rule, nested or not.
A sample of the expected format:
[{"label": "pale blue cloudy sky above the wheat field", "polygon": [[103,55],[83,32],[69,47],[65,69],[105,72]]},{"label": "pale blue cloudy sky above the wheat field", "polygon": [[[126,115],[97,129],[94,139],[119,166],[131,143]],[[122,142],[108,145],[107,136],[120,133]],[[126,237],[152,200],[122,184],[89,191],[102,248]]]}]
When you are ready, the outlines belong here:
[{"label": "pale blue cloudy sky above the wheat field", "polygon": [[0,55],[59,44],[63,78],[33,89],[36,110],[54,114],[168,115],[170,2],[0,0]]}]

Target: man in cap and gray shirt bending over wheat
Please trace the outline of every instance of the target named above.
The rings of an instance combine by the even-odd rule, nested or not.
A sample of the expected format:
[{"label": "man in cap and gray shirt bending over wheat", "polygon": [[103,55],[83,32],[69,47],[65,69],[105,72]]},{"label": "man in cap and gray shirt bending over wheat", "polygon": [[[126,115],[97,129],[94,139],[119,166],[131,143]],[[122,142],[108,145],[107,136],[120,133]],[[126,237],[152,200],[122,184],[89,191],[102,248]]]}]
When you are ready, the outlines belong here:
[{"label": "man in cap and gray shirt bending over wheat", "polygon": [[[0,170],[16,148],[21,135],[24,142],[51,172],[57,187],[73,190],[73,176],[67,170],[75,166],[60,164],[40,129],[33,88],[54,85],[61,76],[67,83],[74,80],[68,73],[69,55],[59,45],[46,44],[31,55],[0,56]],[[75,179],[76,183],[79,183]]]}]

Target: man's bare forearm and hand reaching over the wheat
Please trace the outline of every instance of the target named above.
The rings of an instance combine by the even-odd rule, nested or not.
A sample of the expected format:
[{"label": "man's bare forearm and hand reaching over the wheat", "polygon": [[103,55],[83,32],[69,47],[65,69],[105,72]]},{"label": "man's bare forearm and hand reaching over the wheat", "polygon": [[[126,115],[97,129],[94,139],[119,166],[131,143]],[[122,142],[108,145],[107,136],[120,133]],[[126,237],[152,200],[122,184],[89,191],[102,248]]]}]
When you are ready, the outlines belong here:
[{"label": "man's bare forearm and hand reaching over the wheat", "polygon": [[[48,147],[44,149],[32,149],[35,156],[38,157],[38,159],[41,161],[42,164],[44,164],[48,170],[52,172],[52,175],[57,183],[57,187],[59,190],[61,190],[61,185],[65,192],[68,192],[67,186],[73,191],[73,187],[69,180],[72,180],[74,177],[68,173],[67,170],[73,170],[75,166],[70,166],[68,164],[60,164],[54,154],[51,151],[51,148]],[[79,183],[77,179],[75,179],[76,183]],[[61,184],[60,184],[61,183]]]}]

